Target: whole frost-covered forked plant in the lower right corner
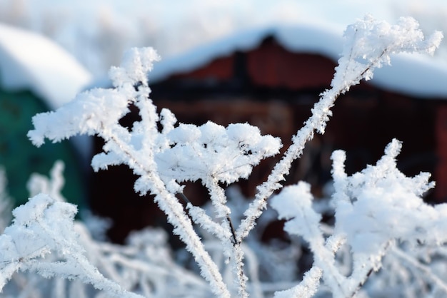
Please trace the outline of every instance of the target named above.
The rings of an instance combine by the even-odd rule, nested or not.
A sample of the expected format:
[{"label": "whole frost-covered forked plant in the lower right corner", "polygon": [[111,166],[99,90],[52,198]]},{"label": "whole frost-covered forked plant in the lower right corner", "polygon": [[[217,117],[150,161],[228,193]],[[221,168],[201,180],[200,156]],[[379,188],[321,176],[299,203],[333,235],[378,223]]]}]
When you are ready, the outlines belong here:
[{"label": "whole frost-covered forked plant in the lower right corner", "polygon": [[[335,192],[332,204],[336,223],[333,235],[327,239],[320,229],[321,216],[312,209],[309,185],[298,183],[284,187],[272,199],[271,205],[278,211],[278,218],[287,220],[284,230],[309,243],[313,268],[321,269],[324,284],[331,288],[334,297],[353,297],[371,272],[381,268],[383,257],[390,252],[418,270],[429,272],[401,253],[396,248],[397,242],[433,246],[447,242],[443,232],[447,224],[447,204],[433,207],[423,202],[421,196],[434,183],[428,181],[428,173],[413,178],[403,175],[396,167],[400,150],[401,143],[393,140],[376,165],[369,165],[351,176],[344,171],[344,152],[333,153]],[[335,252],[343,242],[353,255],[348,277],[336,267]],[[447,289],[438,277],[431,274],[431,279],[440,289]]]}]

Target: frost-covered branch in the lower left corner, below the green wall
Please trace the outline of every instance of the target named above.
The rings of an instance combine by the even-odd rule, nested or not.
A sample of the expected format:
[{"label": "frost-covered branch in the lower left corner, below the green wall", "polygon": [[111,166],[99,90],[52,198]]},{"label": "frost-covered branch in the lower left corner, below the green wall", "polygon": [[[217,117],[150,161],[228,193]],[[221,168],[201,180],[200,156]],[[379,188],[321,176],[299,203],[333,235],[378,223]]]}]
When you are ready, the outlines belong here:
[{"label": "frost-covered branch in the lower left corner, below the green wall", "polygon": [[[106,279],[89,263],[76,240],[75,214],[74,205],[48,195],[36,195],[17,207],[13,225],[0,236],[0,289],[16,271],[29,270],[43,277],[76,278],[114,297],[141,297]],[[49,254],[59,255],[62,260],[42,262]]]}]

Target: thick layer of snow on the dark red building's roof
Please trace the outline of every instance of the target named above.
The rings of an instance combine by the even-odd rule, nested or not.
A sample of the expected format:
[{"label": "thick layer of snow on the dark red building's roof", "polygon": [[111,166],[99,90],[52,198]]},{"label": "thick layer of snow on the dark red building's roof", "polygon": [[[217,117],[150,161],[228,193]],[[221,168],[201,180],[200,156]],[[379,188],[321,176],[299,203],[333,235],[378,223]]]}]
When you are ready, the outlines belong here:
[{"label": "thick layer of snow on the dark red building's roof", "polygon": [[[201,68],[215,58],[231,55],[235,51],[249,51],[267,36],[273,36],[288,51],[317,53],[333,61],[338,60],[343,46],[343,36],[338,30],[315,24],[249,29],[162,60],[155,64],[149,79],[153,83],[158,82],[175,73]],[[374,72],[373,85],[421,98],[447,98],[446,63],[416,54],[395,56],[391,63],[392,66]]]}]

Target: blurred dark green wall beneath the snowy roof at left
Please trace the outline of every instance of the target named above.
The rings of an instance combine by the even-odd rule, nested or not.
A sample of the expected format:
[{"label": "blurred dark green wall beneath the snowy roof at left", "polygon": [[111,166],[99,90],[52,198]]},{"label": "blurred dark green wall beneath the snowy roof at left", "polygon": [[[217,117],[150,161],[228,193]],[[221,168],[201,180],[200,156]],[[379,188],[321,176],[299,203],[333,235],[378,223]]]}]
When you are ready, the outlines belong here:
[{"label": "blurred dark green wall beneath the snowy roof at left", "polygon": [[26,202],[29,197],[26,183],[31,173],[48,176],[54,162],[63,160],[66,179],[63,195],[69,202],[83,207],[86,178],[73,145],[65,140],[36,148],[26,137],[32,128],[32,116],[44,111],[48,108],[33,93],[10,93],[0,89],[0,165],[6,169],[9,195],[14,198],[15,205]]}]

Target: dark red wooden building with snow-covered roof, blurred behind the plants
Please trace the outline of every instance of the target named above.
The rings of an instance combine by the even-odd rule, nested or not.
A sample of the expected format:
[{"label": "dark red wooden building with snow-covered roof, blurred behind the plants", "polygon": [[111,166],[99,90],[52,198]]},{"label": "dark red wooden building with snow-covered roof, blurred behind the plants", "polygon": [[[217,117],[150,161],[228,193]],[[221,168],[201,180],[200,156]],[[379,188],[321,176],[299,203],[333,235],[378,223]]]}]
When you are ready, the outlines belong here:
[{"label": "dark red wooden building with snow-covered roof, blurred behind the plants", "polygon": [[[341,36],[307,27],[238,33],[156,64],[150,75],[151,98],[159,108],[171,109],[180,122],[248,122],[264,134],[281,137],[287,148],[319,93],[329,87],[341,43]],[[399,83],[399,78],[406,81]],[[352,88],[338,98],[326,133],[308,144],[286,183],[306,180],[321,196],[331,178],[333,150],[346,150],[346,170],[354,173],[375,163],[392,138],[403,141],[398,158],[403,173],[433,173],[436,190],[426,200],[446,202],[447,69],[420,58],[398,58],[395,68],[380,70],[373,81]],[[247,197],[275,161],[263,161],[251,180],[240,183]],[[124,167],[94,177],[91,205],[115,220],[112,240],[121,241],[129,230],[164,218],[154,214],[150,198],[132,193],[134,178]],[[123,177],[127,185],[114,182]],[[186,187],[186,195],[196,204],[204,197],[201,191]]]}]

